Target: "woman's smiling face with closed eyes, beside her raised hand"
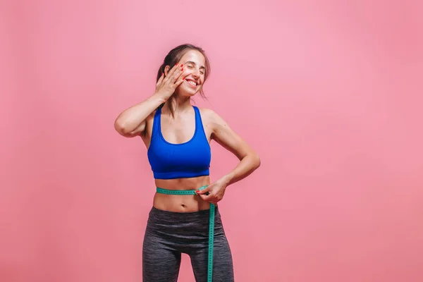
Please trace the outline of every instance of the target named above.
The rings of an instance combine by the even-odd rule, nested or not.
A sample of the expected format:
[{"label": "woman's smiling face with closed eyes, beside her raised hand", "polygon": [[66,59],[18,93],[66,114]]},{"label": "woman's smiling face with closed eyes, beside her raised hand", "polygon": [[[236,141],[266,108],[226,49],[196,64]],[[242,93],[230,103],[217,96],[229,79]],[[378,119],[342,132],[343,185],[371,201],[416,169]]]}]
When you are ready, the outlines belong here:
[{"label": "woman's smiling face with closed eyes, beside her raised hand", "polygon": [[187,51],[180,61],[183,65],[183,77],[185,81],[176,89],[176,93],[181,96],[194,96],[202,89],[204,75],[206,73],[206,60],[200,51]]}]

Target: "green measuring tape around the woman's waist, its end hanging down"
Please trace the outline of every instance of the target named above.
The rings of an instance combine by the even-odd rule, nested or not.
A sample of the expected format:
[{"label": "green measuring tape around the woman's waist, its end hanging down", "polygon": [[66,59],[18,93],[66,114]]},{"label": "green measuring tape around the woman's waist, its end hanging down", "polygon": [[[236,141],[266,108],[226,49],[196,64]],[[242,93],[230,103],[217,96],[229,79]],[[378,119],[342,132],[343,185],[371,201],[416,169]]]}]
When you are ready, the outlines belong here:
[{"label": "green measuring tape around the woman's waist, its end hanging down", "polygon": [[[198,190],[207,188],[202,186]],[[197,195],[195,190],[167,190],[163,188],[156,188],[156,192],[167,195]],[[210,217],[209,217],[209,258],[207,262],[207,282],[212,282],[213,278],[213,245],[214,245],[214,204],[210,203]]]}]

